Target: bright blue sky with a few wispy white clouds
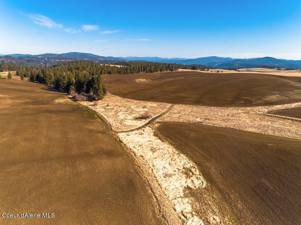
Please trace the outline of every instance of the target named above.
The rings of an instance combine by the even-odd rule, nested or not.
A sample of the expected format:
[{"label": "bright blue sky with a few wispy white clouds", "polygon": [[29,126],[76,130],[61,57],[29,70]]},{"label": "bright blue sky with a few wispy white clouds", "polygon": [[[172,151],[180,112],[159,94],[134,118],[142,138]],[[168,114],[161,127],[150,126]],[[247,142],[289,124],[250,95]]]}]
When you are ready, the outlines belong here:
[{"label": "bright blue sky with a few wispy white clouds", "polygon": [[301,1],[0,0],[0,53],[301,59]]}]

